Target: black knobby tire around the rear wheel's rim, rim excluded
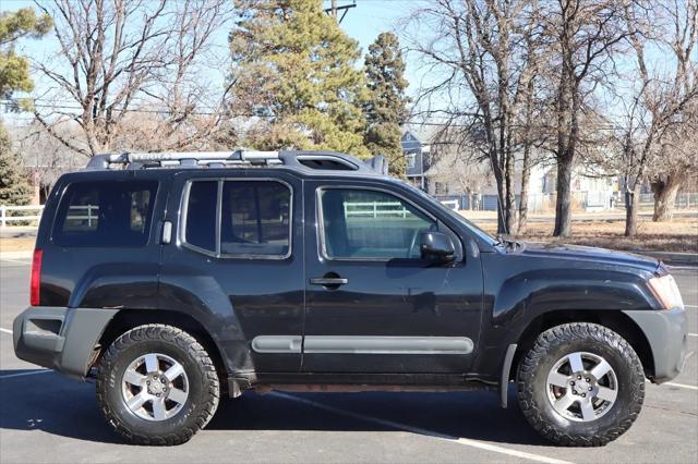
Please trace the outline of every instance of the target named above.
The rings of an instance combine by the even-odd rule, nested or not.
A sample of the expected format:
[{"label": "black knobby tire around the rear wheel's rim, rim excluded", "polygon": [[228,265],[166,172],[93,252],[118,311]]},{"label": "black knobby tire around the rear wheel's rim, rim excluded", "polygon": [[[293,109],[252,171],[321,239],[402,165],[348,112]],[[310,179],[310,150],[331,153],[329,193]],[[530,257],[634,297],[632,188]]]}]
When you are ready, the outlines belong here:
[{"label": "black knobby tire around the rear wheel's rim, rim excluded", "polygon": [[[121,378],[140,355],[156,352],[177,359],[189,377],[186,403],[173,417],[145,420],[125,406]],[[99,363],[97,401],[107,422],[132,444],[173,445],[189,441],[204,428],[218,407],[220,386],[216,367],[204,347],[189,333],[152,323],[129,330],[109,346]]]}]

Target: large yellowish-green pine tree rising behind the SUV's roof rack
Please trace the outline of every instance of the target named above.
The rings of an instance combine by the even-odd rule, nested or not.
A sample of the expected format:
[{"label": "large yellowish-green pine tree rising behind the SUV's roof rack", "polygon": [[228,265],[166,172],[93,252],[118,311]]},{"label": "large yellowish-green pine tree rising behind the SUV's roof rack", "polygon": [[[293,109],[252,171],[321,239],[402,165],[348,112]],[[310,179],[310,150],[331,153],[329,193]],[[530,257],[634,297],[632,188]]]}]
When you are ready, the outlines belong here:
[{"label": "large yellowish-green pine tree rising behind the SUV's roof rack", "polygon": [[239,0],[230,33],[233,113],[260,121],[243,144],[369,156],[368,97],[358,42],[325,14],[321,0]]}]

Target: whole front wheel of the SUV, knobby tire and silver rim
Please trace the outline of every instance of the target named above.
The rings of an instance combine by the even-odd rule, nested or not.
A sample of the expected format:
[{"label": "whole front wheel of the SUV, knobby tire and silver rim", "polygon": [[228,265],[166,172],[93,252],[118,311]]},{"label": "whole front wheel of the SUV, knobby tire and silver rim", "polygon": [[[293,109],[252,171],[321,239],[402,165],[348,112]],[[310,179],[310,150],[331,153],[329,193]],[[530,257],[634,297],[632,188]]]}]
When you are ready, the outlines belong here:
[{"label": "whole front wheel of the SUV, knobby tire and silver rim", "polygon": [[598,447],[623,435],[645,399],[645,374],[616,332],[576,322],[541,333],[519,364],[518,401],[543,437],[570,447]]}]

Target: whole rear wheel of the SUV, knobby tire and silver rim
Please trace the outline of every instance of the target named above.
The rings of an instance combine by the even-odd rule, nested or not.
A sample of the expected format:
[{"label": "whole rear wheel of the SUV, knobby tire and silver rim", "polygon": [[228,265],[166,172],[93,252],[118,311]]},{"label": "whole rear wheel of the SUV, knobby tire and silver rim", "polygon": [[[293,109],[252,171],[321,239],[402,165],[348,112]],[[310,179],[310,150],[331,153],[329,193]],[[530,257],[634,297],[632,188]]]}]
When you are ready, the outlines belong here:
[{"label": "whole rear wheel of the SUV, knobby tire and silver rim", "polygon": [[148,325],[119,337],[97,377],[103,414],[134,444],[179,444],[213,417],[219,382],[214,363],[189,333]]}]

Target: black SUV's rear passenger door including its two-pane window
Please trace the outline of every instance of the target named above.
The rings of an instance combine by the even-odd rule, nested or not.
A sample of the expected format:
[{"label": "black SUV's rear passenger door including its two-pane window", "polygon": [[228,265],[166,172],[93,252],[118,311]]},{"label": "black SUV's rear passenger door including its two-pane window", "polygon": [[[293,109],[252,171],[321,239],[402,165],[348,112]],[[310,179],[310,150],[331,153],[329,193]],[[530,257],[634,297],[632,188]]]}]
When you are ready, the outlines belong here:
[{"label": "black SUV's rear passenger door including its two-pane window", "polygon": [[160,269],[160,307],[201,320],[231,369],[258,376],[300,369],[304,292],[301,183],[265,172],[178,174]]}]

